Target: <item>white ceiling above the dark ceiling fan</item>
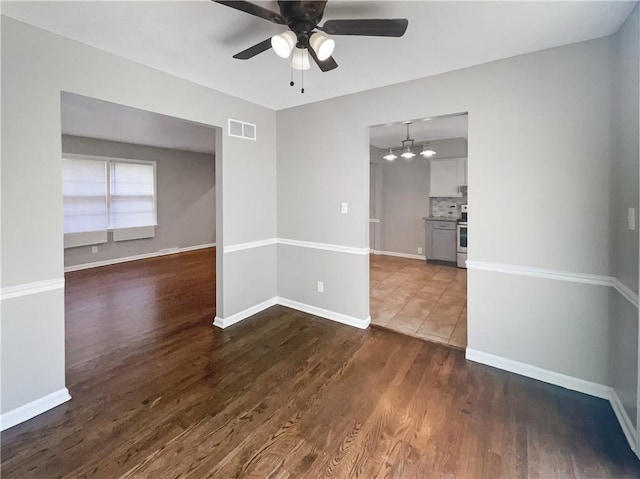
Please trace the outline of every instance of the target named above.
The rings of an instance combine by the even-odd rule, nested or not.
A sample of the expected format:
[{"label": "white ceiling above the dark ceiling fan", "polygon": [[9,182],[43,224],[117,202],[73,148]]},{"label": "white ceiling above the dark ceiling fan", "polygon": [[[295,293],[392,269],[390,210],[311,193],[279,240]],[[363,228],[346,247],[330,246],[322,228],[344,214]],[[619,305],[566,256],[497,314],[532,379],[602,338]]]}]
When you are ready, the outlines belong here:
[{"label": "white ceiling above the dark ceiling fan", "polygon": [[273,51],[231,58],[283,27],[209,0],[3,1],[2,14],[278,110],[610,35],[634,4],[329,0],[325,20],[404,17],[409,28],[402,38],[335,37],[339,68],[312,66],[304,94]]}]

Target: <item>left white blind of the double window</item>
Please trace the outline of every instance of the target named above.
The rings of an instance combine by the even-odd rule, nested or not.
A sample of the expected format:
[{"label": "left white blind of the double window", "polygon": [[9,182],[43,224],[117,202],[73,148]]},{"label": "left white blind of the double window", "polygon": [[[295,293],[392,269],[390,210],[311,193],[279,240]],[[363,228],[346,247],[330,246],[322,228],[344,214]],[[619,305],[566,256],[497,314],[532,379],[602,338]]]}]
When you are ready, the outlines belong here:
[{"label": "left white blind of the double window", "polygon": [[106,231],[107,162],[65,158],[62,165],[65,234]]}]

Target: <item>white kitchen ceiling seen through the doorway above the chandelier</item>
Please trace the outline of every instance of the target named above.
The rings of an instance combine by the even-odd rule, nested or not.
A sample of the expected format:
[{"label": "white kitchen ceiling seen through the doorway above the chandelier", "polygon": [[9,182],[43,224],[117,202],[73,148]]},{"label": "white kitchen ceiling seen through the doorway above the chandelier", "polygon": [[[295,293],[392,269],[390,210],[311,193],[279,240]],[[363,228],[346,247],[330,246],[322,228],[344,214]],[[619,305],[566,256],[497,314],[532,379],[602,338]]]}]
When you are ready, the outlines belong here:
[{"label": "white kitchen ceiling seen through the doorway above the chandelier", "polygon": [[[420,118],[409,125],[409,134],[416,141],[467,138],[469,116],[451,115],[436,118]],[[377,148],[398,148],[407,137],[407,125],[402,122],[371,127],[369,142]]]}]

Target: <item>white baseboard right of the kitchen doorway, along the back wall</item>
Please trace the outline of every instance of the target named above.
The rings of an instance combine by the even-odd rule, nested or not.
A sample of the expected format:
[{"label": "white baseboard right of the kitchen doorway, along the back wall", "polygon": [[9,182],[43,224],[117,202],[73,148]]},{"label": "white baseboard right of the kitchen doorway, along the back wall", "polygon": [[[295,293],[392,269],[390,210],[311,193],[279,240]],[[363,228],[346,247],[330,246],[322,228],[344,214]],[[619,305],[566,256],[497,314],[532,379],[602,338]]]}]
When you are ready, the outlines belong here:
[{"label": "white baseboard right of the kitchen doorway, along the back wall", "polygon": [[528,378],[537,379],[538,381],[554,384],[556,386],[561,386],[563,388],[570,389],[571,391],[589,394],[590,396],[602,399],[609,399],[611,397],[611,388],[609,388],[609,386],[585,381],[584,379],[574,378],[573,376],[549,371],[548,369],[531,366],[530,364],[495,356],[475,349],[467,348],[466,358],[469,361],[484,364],[486,366],[492,366],[494,368],[509,371]]}]

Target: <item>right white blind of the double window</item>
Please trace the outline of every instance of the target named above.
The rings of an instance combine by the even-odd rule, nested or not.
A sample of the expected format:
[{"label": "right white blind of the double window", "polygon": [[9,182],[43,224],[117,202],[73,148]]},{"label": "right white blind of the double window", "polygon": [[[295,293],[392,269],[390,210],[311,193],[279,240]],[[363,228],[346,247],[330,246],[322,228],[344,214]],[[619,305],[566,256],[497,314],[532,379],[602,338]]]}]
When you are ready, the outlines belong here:
[{"label": "right white blind of the double window", "polygon": [[154,167],[111,162],[111,227],[135,228],[156,224]]}]

